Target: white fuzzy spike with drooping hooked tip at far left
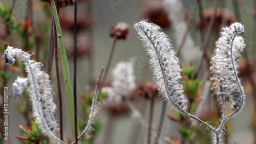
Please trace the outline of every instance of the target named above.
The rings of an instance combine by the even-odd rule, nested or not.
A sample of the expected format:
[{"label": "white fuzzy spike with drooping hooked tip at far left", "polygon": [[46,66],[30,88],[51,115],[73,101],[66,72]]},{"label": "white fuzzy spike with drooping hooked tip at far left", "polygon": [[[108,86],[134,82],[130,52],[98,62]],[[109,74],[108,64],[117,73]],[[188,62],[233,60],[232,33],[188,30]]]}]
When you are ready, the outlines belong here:
[{"label": "white fuzzy spike with drooping hooked tip at far left", "polygon": [[65,143],[55,136],[59,128],[55,119],[56,105],[53,102],[49,75],[41,70],[40,62],[30,59],[29,53],[8,46],[3,55],[5,64],[13,64],[15,57],[22,60],[25,64],[29,83],[29,88],[26,90],[32,102],[35,122],[39,124],[41,132],[48,136],[54,143]]}]

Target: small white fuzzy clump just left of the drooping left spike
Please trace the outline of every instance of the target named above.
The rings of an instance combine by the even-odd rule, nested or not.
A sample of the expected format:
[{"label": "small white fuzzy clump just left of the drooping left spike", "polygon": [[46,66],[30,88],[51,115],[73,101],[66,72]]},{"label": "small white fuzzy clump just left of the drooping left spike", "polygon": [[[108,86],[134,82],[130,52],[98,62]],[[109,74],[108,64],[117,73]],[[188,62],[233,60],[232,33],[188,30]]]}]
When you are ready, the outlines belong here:
[{"label": "small white fuzzy clump just left of the drooping left spike", "polygon": [[12,84],[12,93],[15,98],[21,97],[24,90],[28,87],[28,79],[17,77],[17,79]]}]

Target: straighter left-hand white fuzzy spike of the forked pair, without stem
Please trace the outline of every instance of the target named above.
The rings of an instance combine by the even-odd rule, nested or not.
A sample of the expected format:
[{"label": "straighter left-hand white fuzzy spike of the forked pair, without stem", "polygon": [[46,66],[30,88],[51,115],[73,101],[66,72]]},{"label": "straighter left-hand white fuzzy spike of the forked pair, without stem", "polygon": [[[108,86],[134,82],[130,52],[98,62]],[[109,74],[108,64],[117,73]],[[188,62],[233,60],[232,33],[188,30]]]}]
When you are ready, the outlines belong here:
[{"label": "straighter left-hand white fuzzy spike of the forked pair, without stem", "polygon": [[178,110],[186,110],[187,100],[182,85],[179,84],[180,62],[175,56],[171,41],[159,26],[144,20],[135,23],[134,29],[151,57],[150,64],[164,98]]}]

